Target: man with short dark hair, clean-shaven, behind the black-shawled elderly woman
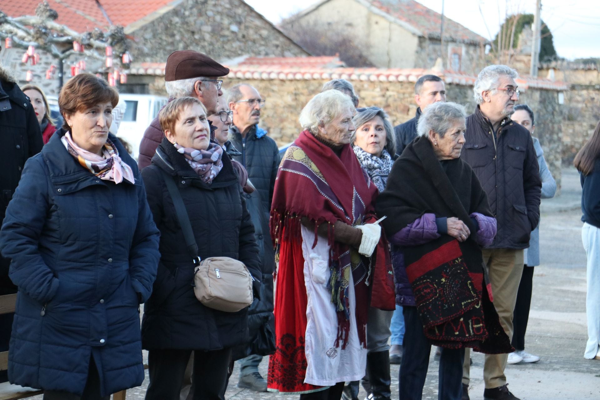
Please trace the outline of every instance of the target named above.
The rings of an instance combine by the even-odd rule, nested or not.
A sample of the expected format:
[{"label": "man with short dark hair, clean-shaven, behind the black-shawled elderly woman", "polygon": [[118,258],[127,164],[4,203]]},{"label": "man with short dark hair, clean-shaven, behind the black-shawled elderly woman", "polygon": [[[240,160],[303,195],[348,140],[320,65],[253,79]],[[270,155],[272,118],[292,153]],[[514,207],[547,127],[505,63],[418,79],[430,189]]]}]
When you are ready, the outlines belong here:
[{"label": "man with short dark hair, clean-shaven, behind the black-shawled elderly woman", "polygon": [[415,118],[409,119],[404,124],[397,125],[394,128],[396,134],[396,155],[400,157],[404,148],[409,145],[416,137],[416,123],[419,122],[421,112],[430,104],[438,101],[446,101],[446,85],[444,81],[435,75],[424,75],[415,83],[415,103],[419,106],[416,109]]}]

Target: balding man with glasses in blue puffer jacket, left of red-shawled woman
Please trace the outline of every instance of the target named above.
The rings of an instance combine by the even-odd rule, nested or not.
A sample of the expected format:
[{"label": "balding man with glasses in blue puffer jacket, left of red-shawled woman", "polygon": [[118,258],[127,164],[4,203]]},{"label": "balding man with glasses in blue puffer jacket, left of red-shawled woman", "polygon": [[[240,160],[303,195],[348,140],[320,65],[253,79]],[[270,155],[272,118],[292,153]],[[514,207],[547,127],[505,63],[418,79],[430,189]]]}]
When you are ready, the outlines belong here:
[{"label": "balding man with glasses in blue puffer jacket, left of red-shawled woman", "polygon": [[254,223],[254,235],[259,245],[262,261],[262,293],[248,311],[250,344],[236,349],[233,359],[245,357],[240,362],[239,387],[255,392],[266,392],[266,380],[260,376],[258,366],[262,356],[270,353],[274,345],[273,316],[273,270],[275,254],[269,234],[269,213],[277,169],[280,163],[277,143],[259,128],[260,110],[265,101],[250,85],[235,85],[229,89],[229,109],[233,112],[233,124],[229,139],[241,153],[233,159],[242,163],[248,171],[248,180],[256,190],[246,194],[248,211]]}]

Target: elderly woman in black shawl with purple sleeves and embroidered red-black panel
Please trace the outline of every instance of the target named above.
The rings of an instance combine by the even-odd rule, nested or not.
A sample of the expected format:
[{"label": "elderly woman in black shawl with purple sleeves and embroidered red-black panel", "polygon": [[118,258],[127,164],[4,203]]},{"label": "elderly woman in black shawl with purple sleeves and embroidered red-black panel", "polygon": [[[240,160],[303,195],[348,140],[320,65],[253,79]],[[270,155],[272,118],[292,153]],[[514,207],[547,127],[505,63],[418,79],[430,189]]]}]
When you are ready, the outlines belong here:
[{"label": "elderly woman in black shawl with purple sleeves and embroidered red-black panel", "polygon": [[[473,170],[460,158],[466,114],[455,103],[427,107],[418,137],[394,163],[377,213],[396,248],[394,272],[406,276],[415,306],[404,306],[406,333],[400,400],[421,399],[431,345],[442,348],[440,400],[462,396],[464,347],[506,353],[509,338],[484,282],[481,246],[496,219]],[[398,279],[398,278],[397,278]]]}]

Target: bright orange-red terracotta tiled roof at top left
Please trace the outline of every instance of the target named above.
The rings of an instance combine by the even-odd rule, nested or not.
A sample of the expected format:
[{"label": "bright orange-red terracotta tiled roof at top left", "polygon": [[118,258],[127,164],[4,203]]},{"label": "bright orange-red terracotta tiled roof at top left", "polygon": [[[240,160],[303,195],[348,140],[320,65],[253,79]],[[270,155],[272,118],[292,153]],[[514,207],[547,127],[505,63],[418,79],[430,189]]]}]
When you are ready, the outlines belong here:
[{"label": "bright orange-red terracotta tiled roof at top left", "polygon": [[[77,32],[94,28],[106,30],[109,22],[95,0],[47,0],[58,13],[56,22]],[[114,25],[127,26],[154,13],[172,0],[100,0],[100,4]],[[2,0],[0,11],[11,17],[35,15],[40,0]]]}]

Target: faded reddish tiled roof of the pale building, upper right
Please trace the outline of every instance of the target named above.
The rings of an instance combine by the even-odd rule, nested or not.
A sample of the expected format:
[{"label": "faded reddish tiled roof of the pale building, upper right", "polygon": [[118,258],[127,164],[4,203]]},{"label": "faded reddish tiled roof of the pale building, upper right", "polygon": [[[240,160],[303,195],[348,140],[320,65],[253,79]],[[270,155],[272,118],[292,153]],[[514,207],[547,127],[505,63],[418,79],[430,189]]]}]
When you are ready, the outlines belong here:
[{"label": "faded reddish tiled roof of the pale building, upper right", "polygon": [[[426,37],[439,40],[442,16],[415,0],[374,0],[374,7],[419,29]],[[444,17],[444,38],[467,43],[486,43],[488,40],[460,23]]]}]

